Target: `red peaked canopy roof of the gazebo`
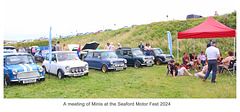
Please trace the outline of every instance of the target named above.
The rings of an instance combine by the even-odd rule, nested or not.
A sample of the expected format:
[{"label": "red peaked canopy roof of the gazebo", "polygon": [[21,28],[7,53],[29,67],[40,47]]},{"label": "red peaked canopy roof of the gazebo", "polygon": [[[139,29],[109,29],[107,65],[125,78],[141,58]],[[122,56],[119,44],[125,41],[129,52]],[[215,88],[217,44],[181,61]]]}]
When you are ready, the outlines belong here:
[{"label": "red peaked canopy roof of the gazebo", "polygon": [[209,17],[202,24],[178,33],[178,39],[236,37],[236,30]]}]

